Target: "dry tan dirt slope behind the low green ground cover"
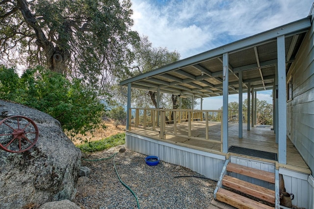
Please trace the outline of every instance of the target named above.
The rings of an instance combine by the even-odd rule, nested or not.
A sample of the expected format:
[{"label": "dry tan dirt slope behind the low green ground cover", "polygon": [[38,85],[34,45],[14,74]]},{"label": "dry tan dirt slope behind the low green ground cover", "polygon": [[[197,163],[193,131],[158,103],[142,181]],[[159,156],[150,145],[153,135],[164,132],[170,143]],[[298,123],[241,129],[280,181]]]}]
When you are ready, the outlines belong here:
[{"label": "dry tan dirt slope behind the low green ground cover", "polygon": [[97,141],[103,138],[115,135],[117,133],[123,133],[126,131],[125,125],[119,125],[115,127],[114,120],[106,119],[103,121],[103,124],[107,127],[106,129],[100,128],[96,129],[93,133],[87,133],[86,136],[78,134],[75,136],[75,140],[72,140],[75,145],[81,144],[84,140],[88,141]]}]

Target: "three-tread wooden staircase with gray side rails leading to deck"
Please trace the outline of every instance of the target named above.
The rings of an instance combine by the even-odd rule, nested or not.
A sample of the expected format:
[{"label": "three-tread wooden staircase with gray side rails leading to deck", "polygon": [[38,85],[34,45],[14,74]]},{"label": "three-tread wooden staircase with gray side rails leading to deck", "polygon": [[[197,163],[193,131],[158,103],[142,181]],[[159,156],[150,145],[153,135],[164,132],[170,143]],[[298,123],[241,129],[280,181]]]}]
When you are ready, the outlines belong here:
[{"label": "three-tread wooden staircase with gray side rails leading to deck", "polygon": [[216,200],[238,209],[274,209],[274,207],[262,203],[264,201],[264,203],[271,203],[269,205],[276,205],[278,201],[276,201],[274,190],[240,180],[227,174],[236,173],[268,183],[275,183],[275,173],[238,165],[229,161],[226,161],[224,169],[214,193]]}]

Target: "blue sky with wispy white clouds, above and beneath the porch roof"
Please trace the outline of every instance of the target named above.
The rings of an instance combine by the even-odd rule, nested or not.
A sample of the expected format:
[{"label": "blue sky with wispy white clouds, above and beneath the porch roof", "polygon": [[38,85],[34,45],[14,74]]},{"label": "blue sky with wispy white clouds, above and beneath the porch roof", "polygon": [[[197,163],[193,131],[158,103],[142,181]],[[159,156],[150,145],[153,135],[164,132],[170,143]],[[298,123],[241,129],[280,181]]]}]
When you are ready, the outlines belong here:
[{"label": "blue sky with wispy white clouds, above and beneath the porch roof", "polygon": [[[313,0],[131,0],[132,19],[154,47],[177,51],[181,59],[306,18]],[[272,91],[258,92],[272,103]],[[243,94],[243,100],[247,94]],[[230,95],[229,102],[238,102]],[[206,98],[203,109],[218,109],[222,97]],[[197,106],[200,108],[200,105]]]}]

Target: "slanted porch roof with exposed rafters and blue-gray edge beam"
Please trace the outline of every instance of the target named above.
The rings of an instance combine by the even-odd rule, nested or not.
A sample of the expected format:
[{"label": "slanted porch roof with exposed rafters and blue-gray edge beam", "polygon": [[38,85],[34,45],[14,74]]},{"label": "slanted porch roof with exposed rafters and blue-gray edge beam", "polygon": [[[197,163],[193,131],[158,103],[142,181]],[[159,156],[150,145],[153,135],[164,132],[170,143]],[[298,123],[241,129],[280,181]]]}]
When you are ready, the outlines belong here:
[{"label": "slanted porch roof with exposed rafters and blue-gray edge beam", "polygon": [[294,61],[311,17],[280,26],[234,43],[191,56],[154,71],[121,81],[120,85],[143,90],[205,98],[222,95],[222,54],[229,54],[229,94],[237,94],[238,73],[242,90],[250,82],[257,90],[272,88],[277,64],[277,37],[285,35],[286,73]]}]

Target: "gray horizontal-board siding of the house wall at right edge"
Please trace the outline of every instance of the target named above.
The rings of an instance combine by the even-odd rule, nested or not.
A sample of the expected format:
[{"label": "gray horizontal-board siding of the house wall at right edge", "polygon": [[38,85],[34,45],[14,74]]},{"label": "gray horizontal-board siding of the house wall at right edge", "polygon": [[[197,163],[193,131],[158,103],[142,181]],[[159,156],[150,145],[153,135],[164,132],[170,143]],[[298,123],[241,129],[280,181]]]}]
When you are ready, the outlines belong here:
[{"label": "gray horizontal-board siding of the house wall at right edge", "polygon": [[287,135],[314,171],[314,27],[307,33],[287,78],[292,100],[287,103]]}]

